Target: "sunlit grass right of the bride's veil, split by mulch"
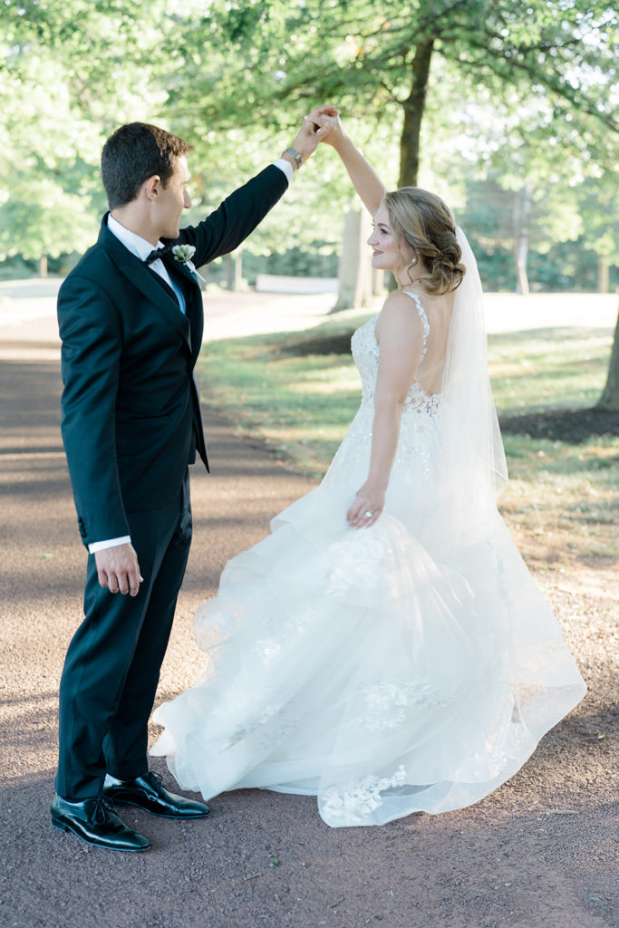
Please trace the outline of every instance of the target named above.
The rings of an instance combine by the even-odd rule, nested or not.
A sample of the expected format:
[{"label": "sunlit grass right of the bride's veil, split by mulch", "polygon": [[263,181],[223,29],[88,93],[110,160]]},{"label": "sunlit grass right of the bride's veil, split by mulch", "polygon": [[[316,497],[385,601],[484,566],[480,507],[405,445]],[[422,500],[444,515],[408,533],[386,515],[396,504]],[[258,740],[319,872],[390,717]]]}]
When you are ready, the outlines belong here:
[{"label": "sunlit grass right of the bride's veil, split by mulch", "polygon": [[[594,406],[606,380],[612,332],[539,329],[489,340],[499,414]],[[503,435],[509,487],[501,511],[532,559],[547,568],[619,556],[619,438],[580,444]]]}]

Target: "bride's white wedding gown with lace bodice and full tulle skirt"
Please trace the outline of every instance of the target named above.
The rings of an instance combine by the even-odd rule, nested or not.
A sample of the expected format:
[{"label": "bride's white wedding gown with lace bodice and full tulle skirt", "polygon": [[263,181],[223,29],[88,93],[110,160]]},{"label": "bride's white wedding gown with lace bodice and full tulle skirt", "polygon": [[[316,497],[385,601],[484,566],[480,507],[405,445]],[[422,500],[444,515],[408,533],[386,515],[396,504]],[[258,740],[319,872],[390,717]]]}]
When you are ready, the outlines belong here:
[{"label": "bride's white wedding gown with lace bodice and full tulle skirt", "polygon": [[368,476],[376,321],[353,337],[362,401],[329,471],[226,565],[196,615],[211,661],[157,709],[151,751],[205,799],[307,793],[334,827],[477,802],[585,693],[496,506],[466,544],[450,534],[440,393],[414,382],[385,508],[348,527]]}]

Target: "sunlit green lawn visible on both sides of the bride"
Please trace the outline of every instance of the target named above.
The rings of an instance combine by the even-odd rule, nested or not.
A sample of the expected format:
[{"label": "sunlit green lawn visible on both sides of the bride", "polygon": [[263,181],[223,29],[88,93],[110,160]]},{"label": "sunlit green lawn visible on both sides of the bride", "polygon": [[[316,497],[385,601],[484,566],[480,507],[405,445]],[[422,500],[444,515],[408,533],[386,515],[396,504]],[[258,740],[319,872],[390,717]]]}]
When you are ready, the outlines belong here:
[{"label": "sunlit green lawn visible on both sides of the bride", "polygon": [[[329,351],[368,318],[349,311],[308,332],[210,342],[202,392],[239,431],[261,435],[288,466],[316,479],[359,403],[350,354]],[[593,406],[603,387],[610,331],[540,329],[491,336],[489,367],[499,414]],[[501,511],[539,568],[616,559],[619,438],[580,445],[505,434],[510,483]]]}]

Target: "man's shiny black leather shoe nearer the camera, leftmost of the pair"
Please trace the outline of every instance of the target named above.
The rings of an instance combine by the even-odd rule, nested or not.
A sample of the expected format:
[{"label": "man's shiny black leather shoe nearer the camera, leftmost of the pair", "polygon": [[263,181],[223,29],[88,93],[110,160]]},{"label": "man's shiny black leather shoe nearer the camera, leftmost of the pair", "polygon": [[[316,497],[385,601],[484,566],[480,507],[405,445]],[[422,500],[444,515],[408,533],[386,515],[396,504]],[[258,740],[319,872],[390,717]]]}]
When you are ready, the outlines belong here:
[{"label": "man's shiny black leather shoe nearer the camera, leftmost of the pair", "polygon": [[70,802],[57,794],[51,811],[54,828],[72,831],[88,844],[112,851],[146,851],[150,847],[148,838],[128,828],[101,796]]}]

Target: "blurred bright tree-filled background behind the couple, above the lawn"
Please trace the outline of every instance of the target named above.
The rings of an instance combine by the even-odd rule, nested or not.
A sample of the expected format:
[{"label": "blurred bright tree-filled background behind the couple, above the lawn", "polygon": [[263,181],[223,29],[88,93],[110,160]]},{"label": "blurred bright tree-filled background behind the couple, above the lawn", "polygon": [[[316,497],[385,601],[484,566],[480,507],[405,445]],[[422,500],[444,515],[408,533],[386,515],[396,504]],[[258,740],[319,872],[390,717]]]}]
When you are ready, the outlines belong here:
[{"label": "blurred bright tree-filled background behind the couple, above the lawn", "polygon": [[[99,154],[120,123],[194,146],[191,221],[331,102],[388,187],[453,207],[486,290],[619,284],[611,3],[3,0],[0,25],[0,280],[63,276],[94,241]],[[332,280],[348,250],[340,303],[363,305],[380,287],[355,257],[368,226],[322,147],[208,278]]]}]

